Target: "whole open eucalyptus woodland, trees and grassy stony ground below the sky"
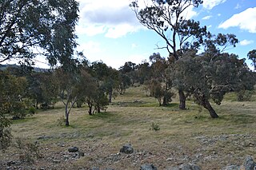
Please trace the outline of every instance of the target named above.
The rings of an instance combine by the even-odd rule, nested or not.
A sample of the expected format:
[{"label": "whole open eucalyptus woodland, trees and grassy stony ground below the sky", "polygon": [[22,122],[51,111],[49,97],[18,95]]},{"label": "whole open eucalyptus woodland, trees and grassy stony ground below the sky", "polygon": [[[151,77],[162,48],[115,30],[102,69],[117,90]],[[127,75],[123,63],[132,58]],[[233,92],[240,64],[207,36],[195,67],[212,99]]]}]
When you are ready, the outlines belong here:
[{"label": "whole open eucalyptus woodland, trees and grassy stony ground below the sky", "polygon": [[[186,18],[202,0],[140,2],[127,8],[168,54],[114,69],[78,51],[79,2],[1,1],[0,169],[222,169],[256,158],[256,49],[229,53],[235,34]],[[34,69],[37,57],[50,69]]]}]

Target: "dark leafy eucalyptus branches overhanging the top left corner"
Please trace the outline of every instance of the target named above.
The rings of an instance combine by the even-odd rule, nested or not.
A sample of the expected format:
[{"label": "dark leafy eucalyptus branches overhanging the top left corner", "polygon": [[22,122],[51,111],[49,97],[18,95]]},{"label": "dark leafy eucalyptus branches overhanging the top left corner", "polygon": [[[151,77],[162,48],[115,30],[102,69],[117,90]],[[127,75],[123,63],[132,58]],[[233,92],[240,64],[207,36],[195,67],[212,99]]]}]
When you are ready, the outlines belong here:
[{"label": "dark leafy eucalyptus branches overhanging the top left corner", "polygon": [[33,64],[45,56],[50,65],[74,53],[78,2],[75,0],[2,0],[0,63],[11,59]]}]

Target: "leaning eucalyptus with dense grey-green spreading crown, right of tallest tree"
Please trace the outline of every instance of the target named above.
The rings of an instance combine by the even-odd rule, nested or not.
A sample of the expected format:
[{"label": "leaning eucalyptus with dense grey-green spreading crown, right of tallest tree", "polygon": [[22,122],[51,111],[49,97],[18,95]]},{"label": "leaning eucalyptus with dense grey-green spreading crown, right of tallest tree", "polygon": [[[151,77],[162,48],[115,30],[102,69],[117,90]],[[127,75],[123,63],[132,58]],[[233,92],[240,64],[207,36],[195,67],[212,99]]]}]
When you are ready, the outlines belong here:
[{"label": "leaning eucalyptus with dense grey-green spreading crown, right of tallest tree", "polygon": [[170,70],[170,73],[173,71],[174,84],[183,85],[186,91],[193,94],[198,105],[209,111],[212,118],[217,118],[218,114],[210,105],[210,99],[221,105],[226,93],[254,89],[254,75],[245,59],[224,53],[237,43],[234,34],[207,34],[203,53],[197,54],[197,50],[187,49]]}]

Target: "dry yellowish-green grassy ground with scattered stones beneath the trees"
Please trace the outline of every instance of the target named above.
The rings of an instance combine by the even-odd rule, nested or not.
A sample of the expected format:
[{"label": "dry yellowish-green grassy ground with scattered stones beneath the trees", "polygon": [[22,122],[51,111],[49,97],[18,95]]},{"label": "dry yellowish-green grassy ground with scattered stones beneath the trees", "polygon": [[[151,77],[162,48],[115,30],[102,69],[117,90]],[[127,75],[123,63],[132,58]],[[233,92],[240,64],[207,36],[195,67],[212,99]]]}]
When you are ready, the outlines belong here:
[{"label": "dry yellowish-green grassy ground with scattered stones beneath the trees", "polygon": [[[158,101],[147,97],[142,88],[127,89],[114,99],[106,113],[89,116],[86,107],[72,109],[70,127],[58,126],[58,119],[64,114],[61,105],[58,109],[40,111],[33,117],[13,121],[13,135],[40,143],[44,158],[38,160],[36,168],[49,165],[49,160],[70,146],[78,146],[86,156],[72,164],[62,161],[56,169],[139,169],[145,163],[165,169],[191,162],[202,169],[220,169],[228,164],[242,164],[246,155],[256,158],[254,101],[238,102],[232,99],[234,94],[228,94],[222,105],[213,105],[220,117],[211,119],[193,101],[187,102],[187,110],[178,110],[178,99],[158,107]],[[152,122],[160,130],[150,130]],[[40,136],[48,137],[38,140]],[[222,136],[227,137],[222,140]],[[59,147],[59,143],[65,147]],[[133,145],[136,156],[119,156],[115,160],[113,154],[126,143]],[[0,155],[0,160],[18,159],[14,152],[15,148],[10,147]]]}]

